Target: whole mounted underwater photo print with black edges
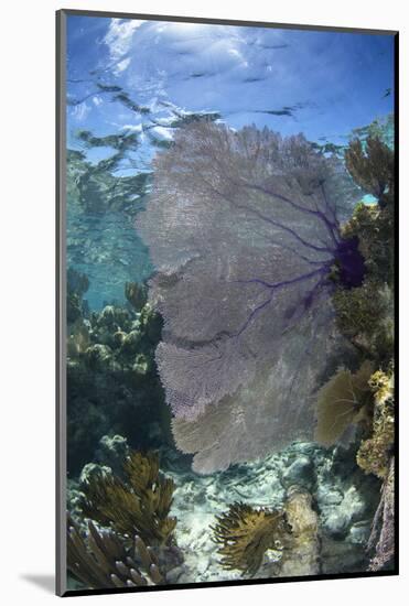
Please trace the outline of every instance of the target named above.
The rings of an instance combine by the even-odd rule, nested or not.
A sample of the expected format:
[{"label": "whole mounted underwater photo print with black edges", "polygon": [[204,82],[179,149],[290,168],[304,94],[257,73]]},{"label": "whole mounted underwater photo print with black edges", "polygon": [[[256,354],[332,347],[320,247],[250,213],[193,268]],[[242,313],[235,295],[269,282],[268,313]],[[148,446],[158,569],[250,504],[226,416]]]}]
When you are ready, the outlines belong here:
[{"label": "whole mounted underwater photo print with black edges", "polygon": [[60,595],[397,574],[397,43],[58,11]]}]

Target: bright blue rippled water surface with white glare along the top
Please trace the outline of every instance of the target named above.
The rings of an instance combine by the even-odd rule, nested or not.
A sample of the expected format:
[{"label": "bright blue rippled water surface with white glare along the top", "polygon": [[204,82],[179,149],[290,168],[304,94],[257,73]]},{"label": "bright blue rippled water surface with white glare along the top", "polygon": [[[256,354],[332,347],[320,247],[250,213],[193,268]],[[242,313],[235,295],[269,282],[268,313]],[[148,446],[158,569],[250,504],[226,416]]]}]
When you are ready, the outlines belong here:
[{"label": "bright blue rippled water surface with white glare along the top", "polygon": [[[266,125],[345,143],[352,129],[394,108],[388,34],[76,15],[67,30],[67,95],[76,104],[68,108],[68,141],[82,128],[140,132],[152,117],[166,139],[173,107],[218,111],[234,128]],[[121,87],[150,113],[125,107],[98,84]]]}]

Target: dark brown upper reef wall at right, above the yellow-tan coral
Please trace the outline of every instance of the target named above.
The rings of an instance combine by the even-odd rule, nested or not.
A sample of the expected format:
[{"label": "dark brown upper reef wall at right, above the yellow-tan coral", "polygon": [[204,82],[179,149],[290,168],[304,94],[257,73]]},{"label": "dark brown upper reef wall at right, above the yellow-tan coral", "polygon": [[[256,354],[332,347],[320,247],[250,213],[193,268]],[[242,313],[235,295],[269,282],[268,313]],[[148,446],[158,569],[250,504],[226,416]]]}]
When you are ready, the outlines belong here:
[{"label": "dark brown upper reef wall at right, above the yellow-tan coral", "polygon": [[352,141],[345,160],[352,176],[377,203],[358,204],[343,226],[345,238],[358,240],[365,279],[352,291],[337,285],[336,322],[360,353],[385,366],[394,356],[394,152],[368,137],[365,145]]}]

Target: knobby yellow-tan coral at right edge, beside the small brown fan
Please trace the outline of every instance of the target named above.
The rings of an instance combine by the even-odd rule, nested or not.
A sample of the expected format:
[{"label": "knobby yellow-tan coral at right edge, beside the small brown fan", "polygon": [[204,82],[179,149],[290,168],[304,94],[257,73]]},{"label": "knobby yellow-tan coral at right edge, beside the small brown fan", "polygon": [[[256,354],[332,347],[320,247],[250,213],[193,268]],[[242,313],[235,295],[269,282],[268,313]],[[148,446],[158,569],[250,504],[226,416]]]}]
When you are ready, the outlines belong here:
[{"label": "knobby yellow-tan coral at right edge, beside the small brown fan", "polygon": [[360,443],[356,461],[366,473],[385,478],[395,444],[394,375],[378,370],[369,386],[375,400],[372,435]]}]

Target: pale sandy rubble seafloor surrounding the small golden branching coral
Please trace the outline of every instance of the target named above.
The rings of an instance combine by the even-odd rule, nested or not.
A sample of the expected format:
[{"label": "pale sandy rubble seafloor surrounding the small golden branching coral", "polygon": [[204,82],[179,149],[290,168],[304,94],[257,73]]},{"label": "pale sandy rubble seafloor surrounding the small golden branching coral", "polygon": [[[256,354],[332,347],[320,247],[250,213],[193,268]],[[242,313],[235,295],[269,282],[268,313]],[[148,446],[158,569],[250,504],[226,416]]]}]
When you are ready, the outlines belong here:
[{"label": "pale sandy rubble seafloor surrounding the small golden branching coral", "polygon": [[[161,462],[162,472],[175,481],[170,515],[177,518],[174,539],[184,558],[182,564],[168,573],[168,583],[250,578],[249,575],[241,576],[239,571],[222,567],[217,545],[212,540],[211,527],[216,522],[215,516],[226,511],[235,501],[252,507],[281,508],[292,486],[304,488],[312,495],[313,508],[319,516],[319,562],[311,574],[352,573],[367,569],[365,548],[380,483],[356,466],[353,448],[293,443],[263,459],[234,465],[226,472],[208,476],[193,473],[190,457],[173,450],[163,450]],[[68,508],[74,516],[77,490],[80,490],[80,484],[72,483]],[[280,552],[267,551],[255,578],[273,578],[275,562],[280,556]],[[286,575],[291,574],[291,569],[287,569]],[[78,588],[76,584],[74,587]]]}]

